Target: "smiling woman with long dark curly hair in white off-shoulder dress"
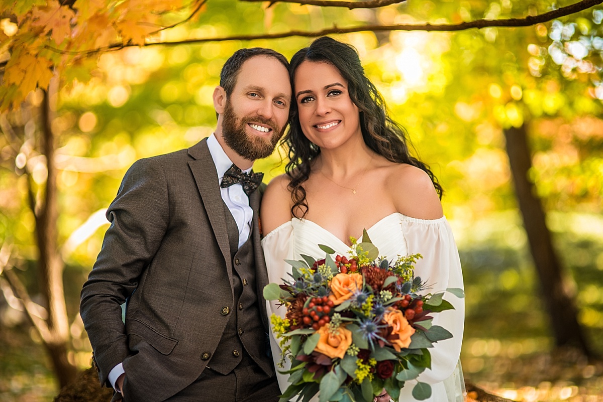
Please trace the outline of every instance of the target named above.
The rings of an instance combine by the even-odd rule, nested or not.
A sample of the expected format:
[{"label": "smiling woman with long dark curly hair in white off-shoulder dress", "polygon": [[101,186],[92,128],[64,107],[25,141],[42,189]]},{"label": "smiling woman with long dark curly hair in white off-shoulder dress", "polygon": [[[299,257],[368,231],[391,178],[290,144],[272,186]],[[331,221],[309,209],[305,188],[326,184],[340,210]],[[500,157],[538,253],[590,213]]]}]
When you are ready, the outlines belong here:
[{"label": "smiling woman with long dark curly hair in white off-shoulder dress", "polygon": [[[364,75],[352,46],[329,37],[298,51],[289,67],[294,105],[286,175],[275,178],[262,200],[262,245],[270,282],[288,277],[284,259],[324,258],[318,244],[345,254],[350,237],[367,229],[380,255],[421,253],[415,272],[430,292],[463,288],[458,252],[440,203],[442,190],[429,168],[409,155],[405,132],[387,115],[384,100]],[[419,377],[432,386],[431,401],[462,400],[457,362],[463,339],[464,301],[434,324],[453,333],[432,349],[432,368]],[[270,303],[268,314],[284,316]],[[275,362],[277,342],[271,339]],[[281,390],[288,383],[279,376]],[[405,386],[400,401],[413,401]]]}]

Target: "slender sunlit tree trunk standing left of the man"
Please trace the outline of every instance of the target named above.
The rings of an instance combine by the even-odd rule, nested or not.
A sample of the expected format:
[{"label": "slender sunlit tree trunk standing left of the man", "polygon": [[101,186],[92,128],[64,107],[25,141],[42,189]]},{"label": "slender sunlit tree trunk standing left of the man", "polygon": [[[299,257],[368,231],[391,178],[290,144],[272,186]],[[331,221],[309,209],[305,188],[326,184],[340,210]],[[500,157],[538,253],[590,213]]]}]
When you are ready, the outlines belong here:
[{"label": "slender sunlit tree trunk standing left of the man", "polygon": [[[52,87],[52,84],[51,84]],[[54,164],[54,135],[51,129],[52,108],[48,92],[42,104],[42,153],[46,156],[46,179],[43,205],[36,206],[36,240],[39,250],[37,261],[40,288],[48,308],[47,336],[42,341],[48,351],[58,384],[62,388],[75,380],[78,369],[69,363],[69,319],[63,291],[63,260],[57,245],[57,169]],[[37,213],[36,213],[37,212]]]}]

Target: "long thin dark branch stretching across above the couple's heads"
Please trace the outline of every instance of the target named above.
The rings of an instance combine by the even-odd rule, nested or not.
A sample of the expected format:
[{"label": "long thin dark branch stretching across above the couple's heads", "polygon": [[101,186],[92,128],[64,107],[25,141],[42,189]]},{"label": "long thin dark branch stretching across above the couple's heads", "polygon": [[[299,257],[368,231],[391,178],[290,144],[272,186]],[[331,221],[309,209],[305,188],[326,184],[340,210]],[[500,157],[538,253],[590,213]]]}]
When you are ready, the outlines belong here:
[{"label": "long thin dark branch stretching across above the couple's heads", "polygon": [[[557,10],[548,11],[547,13],[540,14],[537,16],[527,16],[523,18],[508,18],[508,19],[478,19],[475,21],[461,22],[461,23],[418,23],[418,24],[394,24],[394,25],[360,25],[360,26],[349,26],[346,28],[339,28],[333,25],[332,28],[320,29],[318,31],[286,31],[278,32],[274,34],[257,34],[257,35],[231,35],[223,37],[213,38],[194,38],[185,40],[176,40],[173,42],[151,42],[146,43],[145,46],[156,46],[156,45],[186,45],[192,43],[206,43],[206,42],[226,42],[229,40],[256,40],[256,39],[282,39],[293,36],[300,37],[320,37],[331,34],[349,34],[352,32],[365,32],[365,31],[440,31],[440,32],[453,32],[453,31],[464,31],[471,28],[512,28],[521,26],[531,26],[537,23],[548,22],[550,20],[569,16],[570,14],[578,13],[579,11],[587,10],[587,8],[593,7],[594,5],[603,3],[603,0],[582,0],[575,4],[567,5],[566,7],[558,8]],[[63,51],[61,49],[54,48],[46,45],[45,48],[60,54],[71,54],[71,55],[83,55],[89,56],[99,52],[116,51],[122,48],[137,45],[124,45],[123,43],[114,43],[113,45],[106,46],[104,48],[90,49],[87,51]],[[1,66],[1,65],[0,65]]]}]

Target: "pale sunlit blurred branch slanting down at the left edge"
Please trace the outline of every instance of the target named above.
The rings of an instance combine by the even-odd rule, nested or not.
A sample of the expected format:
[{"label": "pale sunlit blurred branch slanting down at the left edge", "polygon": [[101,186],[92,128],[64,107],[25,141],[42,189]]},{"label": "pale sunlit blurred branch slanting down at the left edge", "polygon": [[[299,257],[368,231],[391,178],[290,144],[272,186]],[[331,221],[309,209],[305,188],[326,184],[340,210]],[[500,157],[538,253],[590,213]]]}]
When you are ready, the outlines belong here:
[{"label": "pale sunlit blurred branch slanting down at the left edge", "polygon": [[48,326],[46,326],[46,322],[39,317],[36,312],[36,309],[40,309],[42,306],[37,305],[31,300],[31,297],[21,282],[21,279],[19,279],[19,277],[13,272],[12,267],[9,266],[10,260],[10,246],[8,246],[7,243],[4,243],[0,249],[0,274],[4,274],[4,278],[8,282],[8,285],[11,289],[13,289],[13,293],[21,301],[25,309],[25,315],[27,315],[27,318],[29,318],[31,324],[37,330],[40,338],[42,338],[43,341],[48,342],[48,340],[51,338]]}]

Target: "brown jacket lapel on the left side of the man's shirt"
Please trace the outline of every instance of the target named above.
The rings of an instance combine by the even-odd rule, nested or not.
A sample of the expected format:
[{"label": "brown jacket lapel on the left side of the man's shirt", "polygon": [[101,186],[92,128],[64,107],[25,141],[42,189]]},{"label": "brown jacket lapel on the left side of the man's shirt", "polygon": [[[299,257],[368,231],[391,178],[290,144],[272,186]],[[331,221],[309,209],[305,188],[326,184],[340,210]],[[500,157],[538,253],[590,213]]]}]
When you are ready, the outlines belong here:
[{"label": "brown jacket lapel on the left side of the man's shirt", "polygon": [[212,155],[209,153],[209,148],[207,148],[207,140],[201,140],[190,147],[188,153],[195,158],[194,161],[189,162],[189,167],[191,167],[192,175],[195,178],[195,182],[197,182],[197,188],[201,194],[207,218],[209,218],[213,235],[224,256],[224,261],[226,261],[226,270],[232,284],[232,262],[230,261],[230,244],[226,226],[224,201],[222,200],[218,185],[218,172],[216,172]]}]

